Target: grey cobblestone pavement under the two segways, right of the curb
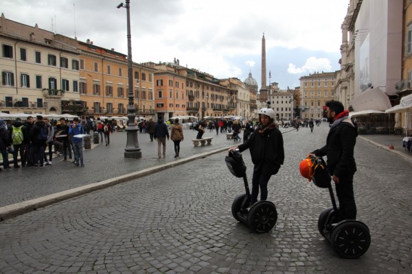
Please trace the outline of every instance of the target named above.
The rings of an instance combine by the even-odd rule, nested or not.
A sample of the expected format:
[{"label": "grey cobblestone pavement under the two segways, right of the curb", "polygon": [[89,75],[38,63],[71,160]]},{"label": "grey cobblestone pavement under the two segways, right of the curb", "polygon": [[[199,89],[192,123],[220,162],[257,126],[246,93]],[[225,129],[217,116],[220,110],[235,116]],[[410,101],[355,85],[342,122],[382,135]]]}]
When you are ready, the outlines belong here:
[{"label": "grey cobblestone pavement under the two segways, right of the curb", "polygon": [[[317,231],[330,197],[298,166],[323,145],[327,130],[284,134],[285,164],[268,195],[279,216],[267,234],[231,216],[244,187],[227,171],[222,152],[1,222],[0,273],[411,273],[412,163],[364,138],[356,144],[354,182],[369,250],[343,260]],[[250,180],[250,156],[243,154]],[[104,160],[106,173],[110,162]]]}]

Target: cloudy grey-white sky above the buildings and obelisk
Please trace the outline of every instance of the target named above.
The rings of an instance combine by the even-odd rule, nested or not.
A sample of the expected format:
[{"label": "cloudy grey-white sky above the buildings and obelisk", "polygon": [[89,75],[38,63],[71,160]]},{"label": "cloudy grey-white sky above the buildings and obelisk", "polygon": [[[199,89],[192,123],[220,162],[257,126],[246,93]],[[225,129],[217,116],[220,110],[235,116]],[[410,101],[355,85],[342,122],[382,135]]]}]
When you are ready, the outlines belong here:
[{"label": "cloudy grey-white sky above the buildings and obelisk", "polygon": [[[5,18],[127,54],[122,0],[1,0]],[[123,0],[124,1],[124,0]],[[124,1],[124,3],[126,3]],[[349,0],[130,0],[134,62],[173,62],[217,78],[249,71],[286,89],[315,71],[340,69]],[[269,79],[271,71],[271,79]]]}]

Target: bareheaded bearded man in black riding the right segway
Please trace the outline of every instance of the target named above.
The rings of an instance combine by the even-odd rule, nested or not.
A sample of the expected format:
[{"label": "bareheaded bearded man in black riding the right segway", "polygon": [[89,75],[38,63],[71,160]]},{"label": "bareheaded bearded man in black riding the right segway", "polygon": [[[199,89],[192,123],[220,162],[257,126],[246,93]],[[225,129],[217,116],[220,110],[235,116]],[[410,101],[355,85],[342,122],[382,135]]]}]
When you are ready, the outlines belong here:
[{"label": "bareheaded bearded man in black riding the right segway", "polygon": [[353,183],[356,172],[354,147],[358,129],[349,117],[349,110],[345,110],[340,101],[330,101],[326,106],[326,117],[332,124],[326,145],[312,151],[306,158],[326,155],[328,171],[335,184],[339,201],[339,221],[356,219]]}]

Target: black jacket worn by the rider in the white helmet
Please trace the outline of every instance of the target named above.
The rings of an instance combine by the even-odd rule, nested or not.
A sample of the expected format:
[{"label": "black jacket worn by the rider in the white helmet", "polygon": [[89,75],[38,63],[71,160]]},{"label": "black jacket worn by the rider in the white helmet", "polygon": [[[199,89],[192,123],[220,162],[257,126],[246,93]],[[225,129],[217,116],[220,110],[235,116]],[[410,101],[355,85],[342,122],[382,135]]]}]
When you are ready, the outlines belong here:
[{"label": "black jacket worn by the rider in the white helmet", "polygon": [[260,134],[256,129],[251,137],[239,145],[239,151],[242,152],[249,148],[252,162],[255,165],[253,170],[262,169],[262,172],[268,175],[276,174],[280,165],[284,163],[284,142],[282,132],[276,127],[268,129],[264,134]]}]

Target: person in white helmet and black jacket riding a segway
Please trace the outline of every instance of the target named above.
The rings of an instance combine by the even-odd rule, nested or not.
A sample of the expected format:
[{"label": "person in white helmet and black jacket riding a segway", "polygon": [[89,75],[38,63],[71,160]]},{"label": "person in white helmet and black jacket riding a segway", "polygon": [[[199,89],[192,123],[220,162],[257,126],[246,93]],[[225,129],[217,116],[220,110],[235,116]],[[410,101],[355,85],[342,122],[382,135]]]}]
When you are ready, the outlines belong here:
[{"label": "person in white helmet and black jacket riding a segway", "polygon": [[258,201],[259,188],[260,200],[268,197],[268,182],[271,175],[275,175],[284,163],[284,142],[282,133],[275,124],[275,111],[271,108],[262,108],[259,111],[259,125],[242,145],[232,147],[240,152],[249,149],[253,162],[252,192],[250,205]]}]

